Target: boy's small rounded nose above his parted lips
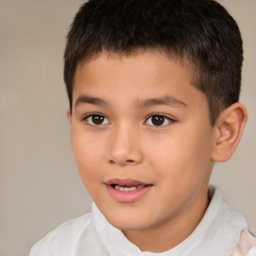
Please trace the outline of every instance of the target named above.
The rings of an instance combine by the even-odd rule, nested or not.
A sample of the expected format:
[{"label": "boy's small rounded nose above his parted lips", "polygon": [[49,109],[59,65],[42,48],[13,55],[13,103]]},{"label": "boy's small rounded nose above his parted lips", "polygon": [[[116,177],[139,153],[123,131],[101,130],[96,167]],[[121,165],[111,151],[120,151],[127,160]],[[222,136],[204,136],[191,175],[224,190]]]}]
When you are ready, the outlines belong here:
[{"label": "boy's small rounded nose above his parted lips", "polygon": [[110,164],[125,166],[142,161],[141,134],[134,127],[122,125],[114,129],[109,140],[107,160]]}]

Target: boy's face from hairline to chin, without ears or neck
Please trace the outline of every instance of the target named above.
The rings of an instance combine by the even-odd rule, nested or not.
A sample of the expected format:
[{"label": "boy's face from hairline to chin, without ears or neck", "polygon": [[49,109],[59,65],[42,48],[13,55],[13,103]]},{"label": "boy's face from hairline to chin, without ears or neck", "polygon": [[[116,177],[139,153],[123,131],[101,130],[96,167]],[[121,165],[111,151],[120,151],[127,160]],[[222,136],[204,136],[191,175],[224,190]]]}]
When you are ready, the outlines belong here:
[{"label": "boy's face from hairline to chin, without ears or neck", "polygon": [[207,207],[215,131],[191,78],[153,51],[77,66],[72,149],[92,199],[119,229],[187,224]]}]

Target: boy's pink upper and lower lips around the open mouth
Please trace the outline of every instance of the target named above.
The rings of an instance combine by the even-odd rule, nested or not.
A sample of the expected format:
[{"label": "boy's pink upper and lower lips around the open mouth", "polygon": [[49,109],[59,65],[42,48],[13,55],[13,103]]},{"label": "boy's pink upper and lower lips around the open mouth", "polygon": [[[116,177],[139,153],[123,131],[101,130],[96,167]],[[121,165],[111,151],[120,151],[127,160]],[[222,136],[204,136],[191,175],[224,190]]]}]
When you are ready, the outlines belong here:
[{"label": "boy's pink upper and lower lips around the open mouth", "polygon": [[[108,193],[118,202],[135,202],[142,195],[146,194],[152,187],[151,184],[145,184],[138,180],[133,179],[111,179],[105,182]],[[143,188],[139,188],[132,191],[119,191],[113,188],[112,184],[118,185],[145,185]]]}]

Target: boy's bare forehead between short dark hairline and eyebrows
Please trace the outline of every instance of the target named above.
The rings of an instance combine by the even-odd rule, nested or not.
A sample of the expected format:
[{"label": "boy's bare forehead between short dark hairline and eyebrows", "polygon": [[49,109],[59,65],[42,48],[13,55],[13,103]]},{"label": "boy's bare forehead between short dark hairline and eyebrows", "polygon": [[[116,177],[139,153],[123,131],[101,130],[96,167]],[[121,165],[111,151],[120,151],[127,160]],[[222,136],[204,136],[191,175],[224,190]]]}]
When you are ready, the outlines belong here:
[{"label": "boy's bare forehead between short dark hairline and eyebrows", "polygon": [[167,95],[182,102],[191,101],[191,91],[202,94],[192,85],[192,73],[188,61],[170,58],[157,50],[129,56],[102,52],[90,61],[78,63],[73,103],[82,94],[106,100],[135,101]]}]

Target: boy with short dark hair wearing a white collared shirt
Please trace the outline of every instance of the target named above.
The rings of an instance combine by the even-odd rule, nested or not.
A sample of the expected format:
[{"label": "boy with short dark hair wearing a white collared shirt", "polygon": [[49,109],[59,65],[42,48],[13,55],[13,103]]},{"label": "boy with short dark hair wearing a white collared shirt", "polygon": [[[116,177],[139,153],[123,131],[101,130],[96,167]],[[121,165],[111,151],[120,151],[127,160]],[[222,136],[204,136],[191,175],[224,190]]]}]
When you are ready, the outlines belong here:
[{"label": "boy with short dark hair wearing a white collared shirt", "polygon": [[30,255],[230,255],[247,224],[208,186],[247,118],[227,11],[213,0],[90,0],[64,61],[72,150],[94,203]]}]

